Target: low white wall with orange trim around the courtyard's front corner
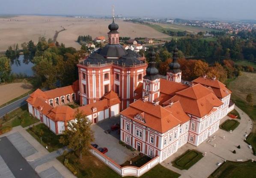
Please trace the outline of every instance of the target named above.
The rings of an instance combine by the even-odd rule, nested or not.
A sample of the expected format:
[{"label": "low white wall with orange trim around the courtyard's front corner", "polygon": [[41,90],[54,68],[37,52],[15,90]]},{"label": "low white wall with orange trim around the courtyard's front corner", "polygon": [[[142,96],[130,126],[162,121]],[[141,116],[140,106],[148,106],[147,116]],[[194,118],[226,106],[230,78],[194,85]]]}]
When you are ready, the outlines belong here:
[{"label": "low white wall with orange trim around the courtyard's front corner", "polygon": [[103,161],[111,169],[113,169],[116,173],[121,175],[122,177],[124,177],[124,176],[139,177],[139,176],[143,175],[145,172],[149,171],[152,167],[156,166],[160,162],[160,157],[157,156],[141,167],[136,167],[136,166],[122,167],[119,164],[117,164],[114,160],[112,160],[110,157],[107,157],[105,154],[102,154],[100,151],[98,151],[96,148],[94,148],[92,146],[91,146],[90,152],[95,157],[97,157],[99,160]]}]

